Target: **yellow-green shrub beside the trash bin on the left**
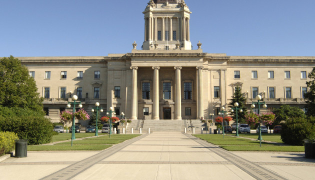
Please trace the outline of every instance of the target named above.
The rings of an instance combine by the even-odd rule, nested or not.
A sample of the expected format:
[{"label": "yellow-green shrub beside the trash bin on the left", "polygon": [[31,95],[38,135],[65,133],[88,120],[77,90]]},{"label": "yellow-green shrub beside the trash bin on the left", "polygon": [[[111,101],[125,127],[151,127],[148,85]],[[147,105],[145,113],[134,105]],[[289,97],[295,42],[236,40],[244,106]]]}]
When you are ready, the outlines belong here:
[{"label": "yellow-green shrub beside the trash bin on the left", "polygon": [[0,156],[14,149],[15,139],[18,139],[14,132],[0,131]]}]

